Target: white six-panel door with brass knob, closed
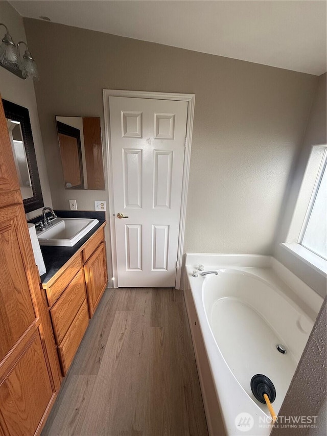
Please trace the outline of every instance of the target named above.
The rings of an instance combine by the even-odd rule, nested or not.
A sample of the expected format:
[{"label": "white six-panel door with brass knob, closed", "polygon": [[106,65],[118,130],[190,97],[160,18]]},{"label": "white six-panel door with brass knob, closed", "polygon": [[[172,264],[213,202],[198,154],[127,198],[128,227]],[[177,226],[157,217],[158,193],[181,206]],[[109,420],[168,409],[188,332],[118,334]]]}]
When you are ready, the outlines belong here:
[{"label": "white six-panel door with brass knob, closed", "polygon": [[175,286],[187,112],[109,97],[119,287]]}]

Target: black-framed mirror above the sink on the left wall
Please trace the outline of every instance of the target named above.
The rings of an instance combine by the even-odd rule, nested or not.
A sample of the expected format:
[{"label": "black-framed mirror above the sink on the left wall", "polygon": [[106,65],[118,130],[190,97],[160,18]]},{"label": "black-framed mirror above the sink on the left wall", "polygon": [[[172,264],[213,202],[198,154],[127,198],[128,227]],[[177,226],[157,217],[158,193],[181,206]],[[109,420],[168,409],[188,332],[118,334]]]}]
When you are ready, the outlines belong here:
[{"label": "black-framed mirror above the sink on the left wall", "polygon": [[3,100],[25,213],[43,207],[29,110]]}]

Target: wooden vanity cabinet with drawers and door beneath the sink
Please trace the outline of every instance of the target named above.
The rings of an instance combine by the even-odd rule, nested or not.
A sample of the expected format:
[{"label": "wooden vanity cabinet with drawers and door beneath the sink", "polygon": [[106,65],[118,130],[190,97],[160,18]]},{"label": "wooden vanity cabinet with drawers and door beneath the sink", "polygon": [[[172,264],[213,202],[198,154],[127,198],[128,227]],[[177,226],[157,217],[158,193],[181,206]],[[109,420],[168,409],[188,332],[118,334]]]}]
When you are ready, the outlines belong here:
[{"label": "wooden vanity cabinet with drawers and door beneath the sink", "polygon": [[45,288],[61,371],[67,374],[107,286],[104,230],[100,228]]}]

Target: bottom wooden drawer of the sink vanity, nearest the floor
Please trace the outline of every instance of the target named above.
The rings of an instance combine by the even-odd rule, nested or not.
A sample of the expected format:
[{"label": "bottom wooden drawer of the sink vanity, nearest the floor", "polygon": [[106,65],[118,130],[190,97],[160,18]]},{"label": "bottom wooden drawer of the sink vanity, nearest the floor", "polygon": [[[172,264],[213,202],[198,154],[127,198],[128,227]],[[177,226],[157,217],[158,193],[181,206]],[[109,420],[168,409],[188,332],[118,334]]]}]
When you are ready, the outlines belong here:
[{"label": "bottom wooden drawer of the sink vanity, nearest the floor", "polygon": [[88,326],[88,311],[86,299],[82,303],[76,317],[73,320],[71,327],[69,327],[63,341],[58,347],[58,354],[62,366],[62,372],[65,376],[71,366],[76,351],[81,343],[84,333]]}]

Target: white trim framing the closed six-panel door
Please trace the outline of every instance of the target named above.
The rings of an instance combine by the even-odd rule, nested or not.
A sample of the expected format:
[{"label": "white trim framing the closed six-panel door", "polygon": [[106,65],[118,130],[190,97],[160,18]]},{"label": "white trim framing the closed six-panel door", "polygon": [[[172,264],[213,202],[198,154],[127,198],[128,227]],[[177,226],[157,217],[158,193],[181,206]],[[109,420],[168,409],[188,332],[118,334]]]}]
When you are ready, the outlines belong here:
[{"label": "white trim framing the closed six-panel door", "polygon": [[106,161],[107,161],[107,180],[109,194],[109,227],[110,227],[110,244],[111,244],[111,260],[112,260],[112,279],[111,285],[113,288],[117,286],[117,252],[115,240],[115,219],[114,219],[114,202],[113,202],[113,177],[111,166],[111,144],[110,144],[110,118],[109,118],[109,97],[131,97],[142,99],[155,100],[175,100],[188,102],[188,116],[186,119],[186,143],[183,164],[183,179],[181,193],[181,208],[179,220],[178,234],[178,249],[177,249],[177,268],[176,268],[176,289],[180,289],[181,269],[183,259],[183,245],[185,234],[185,218],[186,218],[186,201],[188,198],[190,161],[191,161],[191,146],[194,120],[194,104],[195,94],[175,94],[175,93],[156,93],[150,91],[129,91],[123,89],[103,89],[103,109],[104,109],[104,125],[105,125],[105,145],[106,145]]}]

